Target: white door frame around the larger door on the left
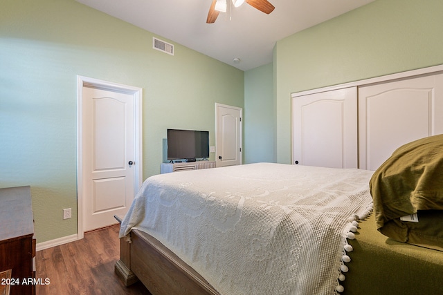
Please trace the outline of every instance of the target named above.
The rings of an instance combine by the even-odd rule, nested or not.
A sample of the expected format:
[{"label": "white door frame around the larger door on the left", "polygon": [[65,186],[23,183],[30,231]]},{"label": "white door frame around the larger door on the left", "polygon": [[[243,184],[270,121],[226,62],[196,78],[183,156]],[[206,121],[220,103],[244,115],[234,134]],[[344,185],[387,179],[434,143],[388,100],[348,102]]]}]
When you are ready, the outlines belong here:
[{"label": "white door frame around the larger door on the left", "polygon": [[78,239],[84,237],[84,196],[83,196],[83,87],[91,86],[107,91],[118,91],[132,95],[134,98],[134,195],[143,183],[143,133],[142,133],[142,99],[143,89],[134,86],[107,82],[90,77],[77,76],[77,232]]}]

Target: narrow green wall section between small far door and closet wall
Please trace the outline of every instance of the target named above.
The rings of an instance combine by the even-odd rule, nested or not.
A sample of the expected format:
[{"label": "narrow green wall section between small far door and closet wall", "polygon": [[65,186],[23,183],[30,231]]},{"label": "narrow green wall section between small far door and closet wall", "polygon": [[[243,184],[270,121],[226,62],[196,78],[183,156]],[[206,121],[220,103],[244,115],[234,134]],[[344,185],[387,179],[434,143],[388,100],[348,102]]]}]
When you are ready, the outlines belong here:
[{"label": "narrow green wall section between small far door and closet wall", "polygon": [[273,66],[244,73],[244,164],[275,162]]}]

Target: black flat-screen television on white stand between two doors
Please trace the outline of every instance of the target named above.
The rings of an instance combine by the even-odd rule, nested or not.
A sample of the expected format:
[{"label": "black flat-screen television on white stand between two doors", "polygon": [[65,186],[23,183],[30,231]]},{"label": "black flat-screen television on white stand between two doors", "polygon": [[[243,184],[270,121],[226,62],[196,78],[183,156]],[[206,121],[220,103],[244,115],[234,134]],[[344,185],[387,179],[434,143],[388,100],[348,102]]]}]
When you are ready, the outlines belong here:
[{"label": "black flat-screen television on white stand between two doors", "polygon": [[209,158],[209,131],[168,129],[168,160]]}]

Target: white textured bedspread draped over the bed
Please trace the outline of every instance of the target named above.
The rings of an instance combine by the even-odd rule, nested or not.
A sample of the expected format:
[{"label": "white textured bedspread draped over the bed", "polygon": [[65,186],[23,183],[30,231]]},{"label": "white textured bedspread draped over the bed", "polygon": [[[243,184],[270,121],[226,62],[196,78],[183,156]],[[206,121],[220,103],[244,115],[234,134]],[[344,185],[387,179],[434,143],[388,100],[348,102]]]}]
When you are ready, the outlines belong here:
[{"label": "white textured bedspread draped over the bed", "polygon": [[125,216],[220,294],[334,294],[373,171],[245,164],[154,175]]}]

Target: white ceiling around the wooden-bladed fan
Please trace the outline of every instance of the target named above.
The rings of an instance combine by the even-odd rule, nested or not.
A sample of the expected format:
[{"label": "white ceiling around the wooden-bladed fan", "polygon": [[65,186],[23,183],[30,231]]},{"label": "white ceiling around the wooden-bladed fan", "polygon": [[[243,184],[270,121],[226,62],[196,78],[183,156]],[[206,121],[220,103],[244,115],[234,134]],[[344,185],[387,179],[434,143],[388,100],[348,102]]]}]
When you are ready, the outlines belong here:
[{"label": "white ceiling around the wooden-bladed fan", "polygon": [[[276,41],[374,0],[269,0],[275,6],[270,15],[245,2],[230,13],[220,12],[211,24],[206,23],[206,17],[212,0],[76,1],[249,70],[272,61]],[[235,58],[239,62],[234,62]]]}]

